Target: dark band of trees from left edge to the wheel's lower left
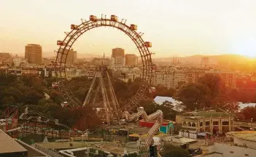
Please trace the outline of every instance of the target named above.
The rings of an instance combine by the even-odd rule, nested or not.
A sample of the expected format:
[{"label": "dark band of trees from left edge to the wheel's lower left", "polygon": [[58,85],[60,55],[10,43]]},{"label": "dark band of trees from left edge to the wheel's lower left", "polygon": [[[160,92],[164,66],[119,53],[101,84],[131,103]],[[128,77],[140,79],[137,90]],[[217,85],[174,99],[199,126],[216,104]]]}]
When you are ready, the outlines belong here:
[{"label": "dark band of trees from left edge to the wheel's lower left", "polygon": [[[76,129],[94,129],[101,124],[93,108],[62,108],[63,97],[58,89],[51,86],[53,81],[55,79],[0,73],[0,116],[7,105],[18,105],[19,113],[28,107],[28,110],[43,113],[48,118],[57,118],[59,123]],[[45,94],[49,94],[50,99],[46,99]]]}]

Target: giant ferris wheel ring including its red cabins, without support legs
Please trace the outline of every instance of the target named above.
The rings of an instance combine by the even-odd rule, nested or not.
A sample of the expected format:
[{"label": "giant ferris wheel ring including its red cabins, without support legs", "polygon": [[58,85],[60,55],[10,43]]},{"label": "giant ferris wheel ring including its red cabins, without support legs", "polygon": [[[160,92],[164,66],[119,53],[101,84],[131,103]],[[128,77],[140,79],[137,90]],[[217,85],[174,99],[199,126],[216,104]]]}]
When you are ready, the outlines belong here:
[{"label": "giant ferris wheel ring including its red cabins, without support legs", "polygon": [[139,102],[141,102],[143,99],[144,94],[149,91],[150,86],[152,85],[152,71],[155,68],[155,65],[152,64],[152,53],[149,50],[149,47],[152,47],[152,44],[151,42],[144,41],[141,38],[143,33],[137,32],[137,25],[128,25],[126,24],[126,20],[118,20],[116,15],[111,15],[109,18],[107,18],[106,15],[101,15],[101,18],[97,18],[95,15],[90,15],[90,20],[82,19],[81,24],[72,24],[71,31],[65,32],[66,37],[62,41],[57,41],[59,48],[55,51],[57,52],[55,59],[55,77],[58,82],[58,88],[60,89],[63,98],[66,100],[66,105],[69,105],[71,108],[85,105],[85,102],[83,103],[77,100],[77,98],[74,97],[74,94],[71,92],[69,81],[66,75],[66,59],[72,45],[75,41],[77,41],[77,39],[79,39],[79,36],[93,28],[103,26],[117,28],[118,30],[123,31],[123,33],[129,36],[133,43],[136,45],[141,56],[141,79],[143,84],[141,84],[136,94],[131,97],[131,100],[123,108],[117,108],[117,110],[115,110],[115,112],[118,114],[123,113],[123,111],[130,111],[132,108],[136,108],[139,105]]}]

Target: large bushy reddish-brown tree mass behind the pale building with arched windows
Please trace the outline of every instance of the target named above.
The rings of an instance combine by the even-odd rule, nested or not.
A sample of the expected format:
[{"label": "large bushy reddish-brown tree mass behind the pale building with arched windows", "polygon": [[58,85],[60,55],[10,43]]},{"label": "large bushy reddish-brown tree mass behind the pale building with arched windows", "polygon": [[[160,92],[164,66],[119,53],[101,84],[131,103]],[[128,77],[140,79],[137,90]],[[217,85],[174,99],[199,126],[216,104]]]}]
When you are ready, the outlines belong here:
[{"label": "large bushy reddish-brown tree mass behind the pale building with arched windows", "polygon": [[221,108],[237,111],[238,103],[228,94],[230,90],[223,84],[220,76],[206,74],[197,84],[184,84],[177,92],[177,99],[187,110],[195,108]]}]

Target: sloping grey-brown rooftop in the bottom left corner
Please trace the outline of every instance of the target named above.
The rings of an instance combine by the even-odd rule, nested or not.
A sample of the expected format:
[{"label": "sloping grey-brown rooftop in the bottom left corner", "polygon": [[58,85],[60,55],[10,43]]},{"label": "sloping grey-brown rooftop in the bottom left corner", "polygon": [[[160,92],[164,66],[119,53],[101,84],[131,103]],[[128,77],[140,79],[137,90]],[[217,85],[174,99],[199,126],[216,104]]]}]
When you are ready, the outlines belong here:
[{"label": "sloping grey-brown rooftop in the bottom left corner", "polygon": [[0,129],[0,153],[26,152],[27,150]]}]

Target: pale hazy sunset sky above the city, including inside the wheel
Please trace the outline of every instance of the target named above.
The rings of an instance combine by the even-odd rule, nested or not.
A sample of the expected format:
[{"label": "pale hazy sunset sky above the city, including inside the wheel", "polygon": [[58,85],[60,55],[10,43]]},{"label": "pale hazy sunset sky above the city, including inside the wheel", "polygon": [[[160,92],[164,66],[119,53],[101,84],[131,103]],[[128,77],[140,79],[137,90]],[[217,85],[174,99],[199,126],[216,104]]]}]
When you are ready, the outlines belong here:
[{"label": "pale hazy sunset sky above the city, including inside the wheel", "polygon": [[[0,12],[0,51],[12,54],[23,54],[28,43],[53,52],[70,24],[104,14],[138,25],[155,57],[256,56],[256,0],[0,0]],[[78,53],[98,55],[114,47],[138,54],[115,28],[95,28],[74,44]]]}]

